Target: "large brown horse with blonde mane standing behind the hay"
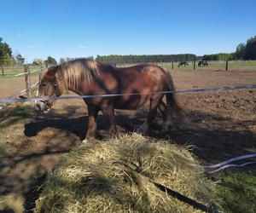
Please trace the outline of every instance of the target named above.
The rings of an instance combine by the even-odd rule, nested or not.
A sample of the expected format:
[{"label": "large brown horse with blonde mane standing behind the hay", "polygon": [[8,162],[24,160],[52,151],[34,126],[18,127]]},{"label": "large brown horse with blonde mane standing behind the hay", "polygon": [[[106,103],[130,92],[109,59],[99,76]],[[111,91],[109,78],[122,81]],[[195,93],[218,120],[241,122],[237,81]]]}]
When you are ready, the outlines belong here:
[{"label": "large brown horse with blonde mane standing behind the hay", "polygon": [[[67,90],[72,90],[78,95],[126,94],[84,99],[89,117],[84,142],[95,137],[96,117],[100,110],[108,119],[110,132],[113,135],[117,134],[114,109],[135,110],[149,101],[147,121],[139,129],[143,133],[148,130],[149,124],[156,117],[157,109],[164,118],[164,131],[169,130],[174,116],[179,117],[183,114],[173,93],[159,93],[174,90],[170,73],[152,64],[116,68],[96,60],[77,59],[49,67],[41,73],[38,97],[60,96]],[[137,95],[131,95],[133,93]],[[164,95],[167,106],[162,101]],[[47,112],[53,103],[54,100],[36,101],[35,107],[37,110]]]}]

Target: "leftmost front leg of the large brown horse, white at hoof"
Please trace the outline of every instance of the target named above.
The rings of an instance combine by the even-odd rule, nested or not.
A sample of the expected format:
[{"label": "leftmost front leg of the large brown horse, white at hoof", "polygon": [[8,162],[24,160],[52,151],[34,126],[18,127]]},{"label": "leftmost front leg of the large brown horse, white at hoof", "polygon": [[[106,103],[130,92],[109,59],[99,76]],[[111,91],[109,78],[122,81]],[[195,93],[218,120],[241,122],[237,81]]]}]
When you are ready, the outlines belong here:
[{"label": "leftmost front leg of the large brown horse, white at hoof", "polygon": [[96,135],[96,118],[99,112],[99,108],[94,105],[88,105],[88,129],[86,138],[83,143],[92,141],[95,139]]}]

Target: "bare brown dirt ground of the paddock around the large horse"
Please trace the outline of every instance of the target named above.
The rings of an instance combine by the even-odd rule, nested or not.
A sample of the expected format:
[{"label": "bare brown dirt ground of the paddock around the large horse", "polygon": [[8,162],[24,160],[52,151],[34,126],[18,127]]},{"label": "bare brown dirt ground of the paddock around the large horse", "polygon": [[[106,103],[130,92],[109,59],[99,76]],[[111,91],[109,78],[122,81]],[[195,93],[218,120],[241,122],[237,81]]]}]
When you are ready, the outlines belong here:
[{"label": "bare brown dirt ground of the paddock around the large horse", "polygon": [[[256,84],[256,71],[252,70],[174,70],[172,77],[177,89]],[[21,89],[24,89],[23,78],[0,79],[0,97]],[[186,112],[188,123],[182,129],[162,135],[159,115],[149,136],[193,145],[192,152],[201,164],[256,152],[256,89],[178,94],[177,101]],[[119,132],[137,130],[147,117],[147,109],[146,106],[137,111],[116,111]],[[101,114],[97,124],[99,139],[102,139],[108,135],[108,124]],[[63,153],[79,146],[86,127],[86,108],[81,100],[58,101],[48,114],[23,107],[17,109],[13,118],[3,120],[0,124],[0,211],[31,210],[45,174]]]}]

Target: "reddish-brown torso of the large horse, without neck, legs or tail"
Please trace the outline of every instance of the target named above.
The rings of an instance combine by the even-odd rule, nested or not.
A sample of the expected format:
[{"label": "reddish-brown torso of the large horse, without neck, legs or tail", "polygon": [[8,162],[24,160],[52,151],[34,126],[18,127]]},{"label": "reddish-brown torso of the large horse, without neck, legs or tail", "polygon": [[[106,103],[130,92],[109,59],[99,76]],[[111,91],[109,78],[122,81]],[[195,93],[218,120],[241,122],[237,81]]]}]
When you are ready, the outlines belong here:
[{"label": "reddish-brown torso of the large horse, without neck, legs or tail", "polygon": [[[105,64],[99,66],[101,85],[105,94],[129,94],[111,98],[119,109],[136,109],[149,100],[150,93],[168,89],[169,76],[165,70],[152,64],[117,68]],[[131,95],[137,94],[137,95]],[[155,96],[163,96],[155,94]]]}]

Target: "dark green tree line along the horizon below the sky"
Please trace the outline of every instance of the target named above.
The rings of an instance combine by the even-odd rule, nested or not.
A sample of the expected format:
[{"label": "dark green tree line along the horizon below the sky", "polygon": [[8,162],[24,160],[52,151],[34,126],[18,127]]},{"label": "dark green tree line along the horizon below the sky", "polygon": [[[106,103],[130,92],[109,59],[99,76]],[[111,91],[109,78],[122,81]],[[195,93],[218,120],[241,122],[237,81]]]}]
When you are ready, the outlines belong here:
[{"label": "dark green tree line along the horizon below the sky", "polygon": [[[93,58],[90,56],[90,58]],[[60,63],[73,60],[74,58],[61,58]],[[236,51],[233,53],[218,53],[212,55],[197,56],[194,54],[178,55],[97,55],[96,60],[102,62],[114,62],[117,64],[134,64],[134,63],[152,63],[152,62],[172,62],[172,61],[191,61],[191,60],[256,60],[256,36],[247,39],[246,43],[239,43]],[[13,55],[9,44],[3,42],[0,37],[0,66],[22,65],[25,62],[22,55]],[[49,56],[46,60],[34,59],[33,65],[51,66],[56,65],[55,58]]]}]

